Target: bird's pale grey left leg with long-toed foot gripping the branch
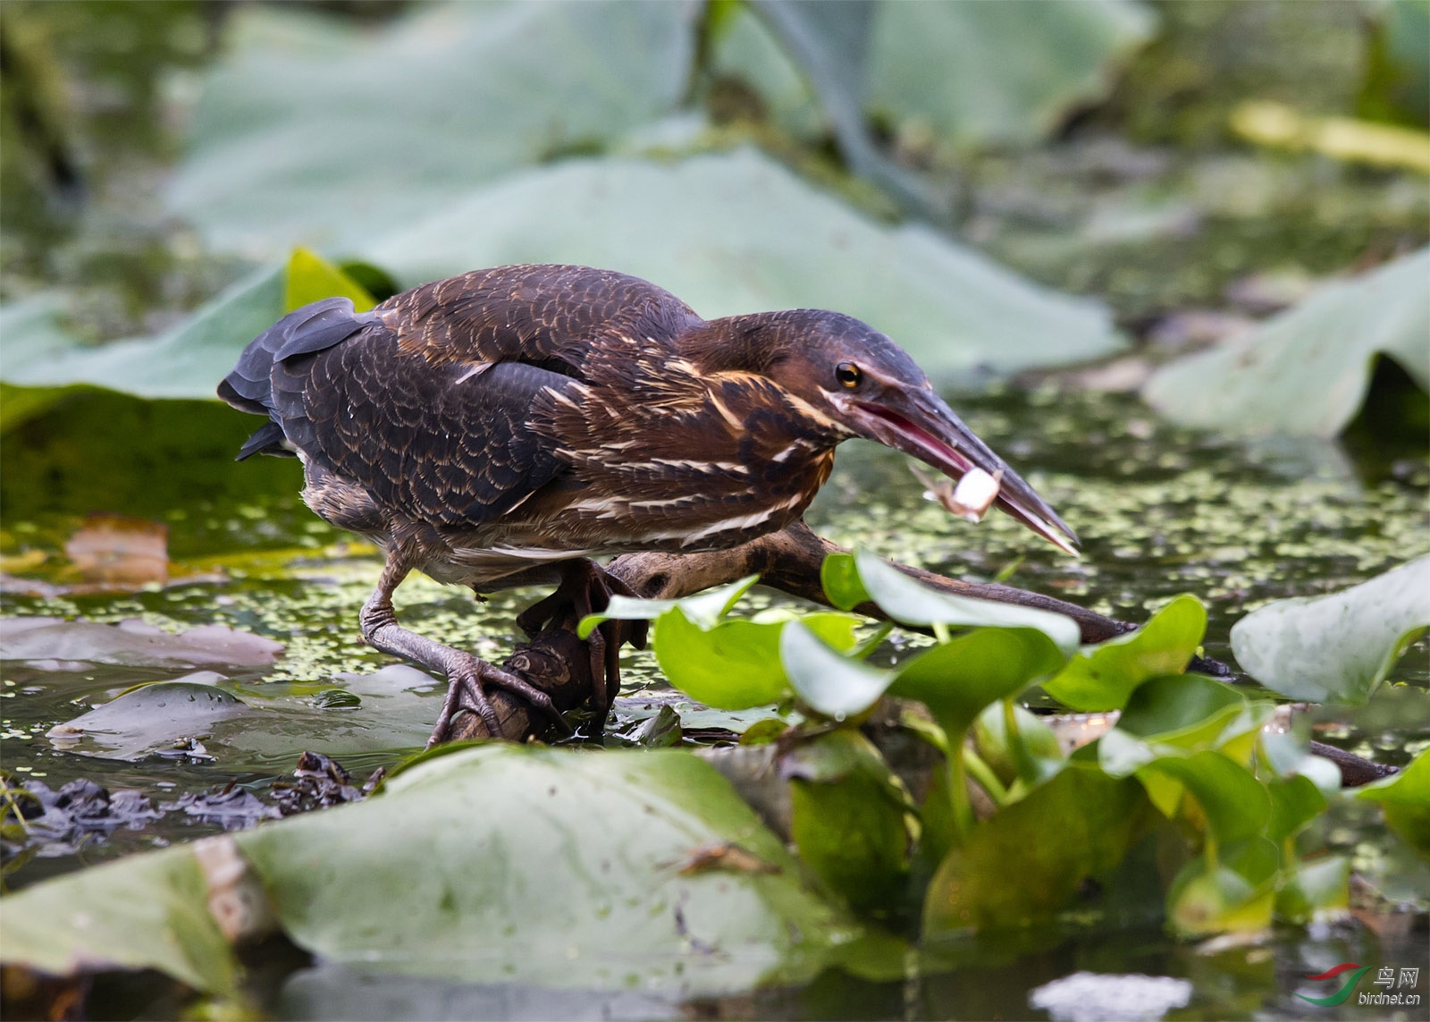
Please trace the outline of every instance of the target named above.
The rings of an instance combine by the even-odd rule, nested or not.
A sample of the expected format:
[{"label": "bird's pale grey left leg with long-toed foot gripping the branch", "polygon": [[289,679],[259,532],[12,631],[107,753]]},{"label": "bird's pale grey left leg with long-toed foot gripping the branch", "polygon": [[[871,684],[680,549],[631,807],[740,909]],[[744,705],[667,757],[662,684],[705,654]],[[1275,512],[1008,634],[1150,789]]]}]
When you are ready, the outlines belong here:
[{"label": "bird's pale grey left leg with long-toed foot gripping the branch", "polygon": [[378,588],[362,608],[362,637],[375,650],[412,660],[446,676],[448,694],[442,701],[442,713],[438,714],[438,723],[432,729],[432,737],[428,739],[428,749],[446,740],[452,727],[452,717],[462,710],[476,713],[486,724],[488,733],[493,737],[502,733],[496,713],[492,711],[492,704],[486,700],[485,684],[493,684],[522,696],[532,706],[565,727],[565,721],[551,701],[551,696],[542,690],[511,671],[503,671],[500,667],[486,663],[480,657],[463,653],[462,650],[453,650],[450,646],[443,646],[415,631],[408,631],[398,624],[398,614],[392,608],[392,591],[408,577],[410,570],[412,564],[402,551],[393,550],[388,554],[388,563],[383,565],[382,577],[378,580]]}]

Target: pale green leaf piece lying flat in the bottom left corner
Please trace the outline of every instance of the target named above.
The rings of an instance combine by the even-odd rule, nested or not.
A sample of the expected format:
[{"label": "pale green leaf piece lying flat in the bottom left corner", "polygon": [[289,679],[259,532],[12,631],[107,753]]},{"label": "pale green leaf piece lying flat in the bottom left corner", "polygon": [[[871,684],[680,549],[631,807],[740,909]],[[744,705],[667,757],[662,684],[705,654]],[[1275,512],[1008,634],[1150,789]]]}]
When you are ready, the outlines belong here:
[{"label": "pale green leaf piece lying flat in the bottom left corner", "polygon": [[237,972],[187,847],[132,855],[6,895],[0,962],[54,976],[157,969],[217,995],[233,992]]}]

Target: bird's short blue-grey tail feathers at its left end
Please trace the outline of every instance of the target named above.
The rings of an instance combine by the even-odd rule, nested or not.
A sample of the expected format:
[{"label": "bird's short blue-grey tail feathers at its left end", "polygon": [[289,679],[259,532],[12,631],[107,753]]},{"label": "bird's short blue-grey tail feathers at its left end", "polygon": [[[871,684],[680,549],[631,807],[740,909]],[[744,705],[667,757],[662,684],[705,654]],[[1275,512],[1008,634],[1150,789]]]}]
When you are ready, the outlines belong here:
[{"label": "bird's short blue-grey tail feathers at its left end", "polygon": [[275,364],[342,344],[373,318],[372,312],[356,312],[349,298],[325,298],[289,312],[249,342],[219,384],[219,396],[240,411],[267,415],[269,422],[243,444],[239,461],[255,454],[293,454],[273,395]]}]

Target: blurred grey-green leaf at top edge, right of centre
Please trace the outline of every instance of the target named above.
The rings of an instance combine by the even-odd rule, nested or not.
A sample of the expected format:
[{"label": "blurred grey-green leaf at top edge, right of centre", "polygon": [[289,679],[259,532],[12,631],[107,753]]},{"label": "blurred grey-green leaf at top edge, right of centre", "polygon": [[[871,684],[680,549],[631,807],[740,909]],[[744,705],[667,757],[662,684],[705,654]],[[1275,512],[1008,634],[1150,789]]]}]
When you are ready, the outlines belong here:
[{"label": "blurred grey-green leaf at top edge, right of centre", "polygon": [[1127,0],[879,4],[868,99],[958,145],[1027,143],[1104,94],[1154,16]]}]

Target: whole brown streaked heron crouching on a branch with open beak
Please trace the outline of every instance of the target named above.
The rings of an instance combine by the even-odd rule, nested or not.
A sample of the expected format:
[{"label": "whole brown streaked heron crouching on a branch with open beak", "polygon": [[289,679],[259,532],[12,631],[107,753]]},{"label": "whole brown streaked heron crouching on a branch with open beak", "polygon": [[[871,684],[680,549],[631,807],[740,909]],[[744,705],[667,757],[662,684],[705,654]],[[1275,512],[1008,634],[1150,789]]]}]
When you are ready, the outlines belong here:
[{"label": "whole brown streaked heron crouching on a branch with open beak", "polygon": [[[798,521],[851,437],[954,480],[981,468],[1001,480],[1000,508],[1062,550],[1077,542],[914,359],[858,319],[706,322],[611,271],[475,271],[372,312],[315,302],[259,335],[219,396],[269,418],[240,461],[297,455],[305,502],[385,551],[362,637],[448,677],[435,740],[459,710],[496,733],[485,686],[556,711],[522,678],[402,628],[392,593],[412,570],[478,594],[559,584],[518,617],[532,631],[623,590],[593,555],[726,548]],[[615,637],[591,638],[602,721],[619,688]]]}]

